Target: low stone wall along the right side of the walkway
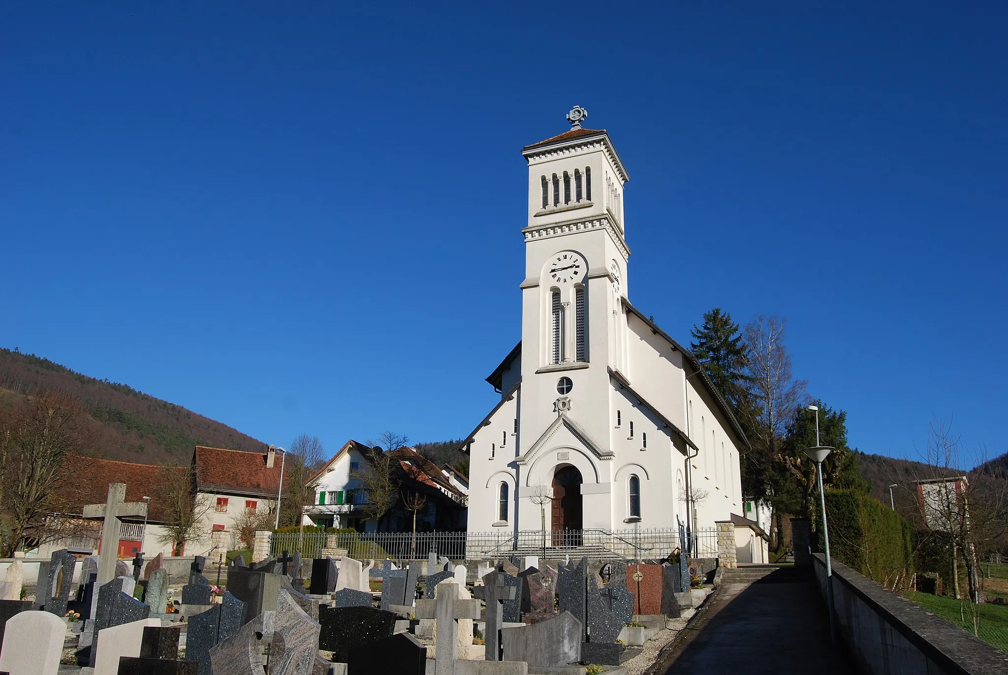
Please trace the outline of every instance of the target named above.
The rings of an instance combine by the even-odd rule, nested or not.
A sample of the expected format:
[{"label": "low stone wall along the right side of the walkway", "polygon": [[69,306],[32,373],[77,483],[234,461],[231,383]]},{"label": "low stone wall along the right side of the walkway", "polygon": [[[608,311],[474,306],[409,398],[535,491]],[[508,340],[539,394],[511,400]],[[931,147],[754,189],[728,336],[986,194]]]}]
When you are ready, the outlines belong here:
[{"label": "low stone wall along the right side of the walkway", "polygon": [[[812,560],[816,581],[826,598],[826,557],[815,553]],[[1008,672],[1008,655],[928,614],[836,560],[833,590],[837,631],[863,673],[1003,675]]]}]

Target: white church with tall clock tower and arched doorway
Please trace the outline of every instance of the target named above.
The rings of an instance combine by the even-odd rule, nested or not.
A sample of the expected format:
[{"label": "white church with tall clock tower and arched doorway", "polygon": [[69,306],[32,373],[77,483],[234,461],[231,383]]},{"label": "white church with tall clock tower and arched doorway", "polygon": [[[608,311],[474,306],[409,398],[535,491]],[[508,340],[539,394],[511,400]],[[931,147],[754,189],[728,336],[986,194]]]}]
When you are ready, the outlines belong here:
[{"label": "white church with tall clock tower and arched doorway", "polygon": [[692,354],[630,302],[629,176],[586,114],[522,150],[521,342],[487,377],[500,403],[466,441],[471,534],[538,532],[536,494],[553,497],[545,529],[572,535],[743,513],[747,441]]}]

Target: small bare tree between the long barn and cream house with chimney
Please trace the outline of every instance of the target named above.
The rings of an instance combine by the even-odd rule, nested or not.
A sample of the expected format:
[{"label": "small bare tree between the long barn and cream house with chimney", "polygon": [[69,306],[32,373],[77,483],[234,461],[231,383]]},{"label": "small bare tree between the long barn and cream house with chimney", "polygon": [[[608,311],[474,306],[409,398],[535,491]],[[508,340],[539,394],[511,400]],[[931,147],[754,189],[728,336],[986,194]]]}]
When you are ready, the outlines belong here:
[{"label": "small bare tree between the long barn and cream house with chimney", "polygon": [[209,499],[197,498],[192,464],[162,466],[153,492],[158,511],[164,514],[164,532],[158,540],[171,545],[171,555],[182,555],[186,543],[208,539],[209,534],[201,526],[214,504]]}]

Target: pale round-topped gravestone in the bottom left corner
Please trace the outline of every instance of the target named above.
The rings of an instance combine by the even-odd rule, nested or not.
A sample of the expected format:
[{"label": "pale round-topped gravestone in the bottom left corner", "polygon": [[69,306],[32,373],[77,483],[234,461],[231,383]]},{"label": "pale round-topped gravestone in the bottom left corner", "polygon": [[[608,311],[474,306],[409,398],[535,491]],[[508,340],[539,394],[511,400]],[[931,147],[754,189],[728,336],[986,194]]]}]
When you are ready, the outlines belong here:
[{"label": "pale round-topped gravestone in the bottom left corner", "polygon": [[48,611],[21,611],[7,621],[0,646],[0,671],[55,675],[67,625]]}]

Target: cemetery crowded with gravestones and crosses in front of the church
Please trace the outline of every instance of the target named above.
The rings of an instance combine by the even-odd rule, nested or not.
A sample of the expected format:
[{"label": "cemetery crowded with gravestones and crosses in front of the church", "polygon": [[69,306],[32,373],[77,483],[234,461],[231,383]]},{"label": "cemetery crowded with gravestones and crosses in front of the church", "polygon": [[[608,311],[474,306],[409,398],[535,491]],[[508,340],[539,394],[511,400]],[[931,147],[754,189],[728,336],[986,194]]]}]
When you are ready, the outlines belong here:
[{"label": "cemetery crowded with gravestones and crosses in front of the church", "polygon": [[[112,485],[101,504],[106,541],[118,536],[118,515],[135,508],[124,492]],[[0,673],[636,673],[643,667],[630,666],[643,663],[645,646],[669,642],[697,601],[685,557],[451,561],[431,552],[361,561],[282,552],[237,556],[221,587],[202,556],[171,575],[177,566],[161,554],[116,553],[55,551],[38,562],[33,586],[21,560],[9,564]]]}]

